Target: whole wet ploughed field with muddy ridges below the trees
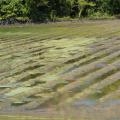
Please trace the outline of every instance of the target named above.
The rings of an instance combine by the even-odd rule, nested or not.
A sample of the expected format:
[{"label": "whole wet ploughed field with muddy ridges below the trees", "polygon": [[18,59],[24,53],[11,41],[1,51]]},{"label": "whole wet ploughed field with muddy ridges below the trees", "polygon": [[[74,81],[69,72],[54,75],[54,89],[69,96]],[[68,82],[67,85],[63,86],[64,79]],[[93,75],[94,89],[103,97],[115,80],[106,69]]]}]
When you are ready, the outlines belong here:
[{"label": "whole wet ploughed field with muddy ridges below the trees", "polygon": [[120,120],[120,21],[1,26],[0,114]]}]

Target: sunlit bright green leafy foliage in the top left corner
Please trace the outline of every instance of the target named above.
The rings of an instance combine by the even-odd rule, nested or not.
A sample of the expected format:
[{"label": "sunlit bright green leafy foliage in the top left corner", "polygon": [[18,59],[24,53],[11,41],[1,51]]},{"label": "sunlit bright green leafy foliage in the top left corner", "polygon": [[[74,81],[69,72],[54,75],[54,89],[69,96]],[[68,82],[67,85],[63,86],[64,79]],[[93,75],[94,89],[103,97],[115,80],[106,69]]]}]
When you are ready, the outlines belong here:
[{"label": "sunlit bright green leafy foliage in the top left corner", "polygon": [[2,0],[0,8],[0,16],[3,18],[27,16],[24,0]]}]

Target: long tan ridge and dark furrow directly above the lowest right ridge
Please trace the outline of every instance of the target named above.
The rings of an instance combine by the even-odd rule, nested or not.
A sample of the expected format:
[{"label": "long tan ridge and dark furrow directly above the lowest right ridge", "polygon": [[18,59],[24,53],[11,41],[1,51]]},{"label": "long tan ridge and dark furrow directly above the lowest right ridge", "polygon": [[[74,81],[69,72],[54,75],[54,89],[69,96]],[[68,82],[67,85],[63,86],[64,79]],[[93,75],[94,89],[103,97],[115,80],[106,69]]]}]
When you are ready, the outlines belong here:
[{"label": "long tan ridge and dark furrow directly above the lowest right ridge", "polygon": [[[69,97],[72,97],[75,94],[82,92],[87,87],[89,87],[97,82],[100,82],[100,81],[104,80],[105,78],[107,78],[108,76],[113,75],[116,72],[120,71],[120,68],[119,67],[115,68],[114,64],[113,64],[113,66],[110,65],[109,67],[103,68],[97,72],[92,73],[91,75],[88,75],[87,78],[83,78],[74,83],[68,84],[68,85],[64,86],[62,89],[60,88],[59,90],[57,90],[57,92],[55,94],[55,96],[57,96],[58,98],[55,98],[55,96],[53,96],[52,101],[54,99],[57,99],[58,103],[59,103],[62,99],[66,99],[66,97],[69,99]],[[118,64],[118,62],[116,64]],[[51,98],[50,98],[50,100],[51,100]]]}]

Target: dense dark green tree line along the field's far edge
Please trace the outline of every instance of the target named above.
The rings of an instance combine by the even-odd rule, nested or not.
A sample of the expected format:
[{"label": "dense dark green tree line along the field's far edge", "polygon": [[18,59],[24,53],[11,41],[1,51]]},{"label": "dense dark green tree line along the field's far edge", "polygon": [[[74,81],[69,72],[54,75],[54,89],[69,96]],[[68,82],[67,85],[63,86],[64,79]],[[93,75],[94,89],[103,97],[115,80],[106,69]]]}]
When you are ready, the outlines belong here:
[{"label": "dense dark green tree line along the field's far edge", "polygon": [[0,19],[21,18],[54,21],[120,14],[120,0],[0,0]]}]

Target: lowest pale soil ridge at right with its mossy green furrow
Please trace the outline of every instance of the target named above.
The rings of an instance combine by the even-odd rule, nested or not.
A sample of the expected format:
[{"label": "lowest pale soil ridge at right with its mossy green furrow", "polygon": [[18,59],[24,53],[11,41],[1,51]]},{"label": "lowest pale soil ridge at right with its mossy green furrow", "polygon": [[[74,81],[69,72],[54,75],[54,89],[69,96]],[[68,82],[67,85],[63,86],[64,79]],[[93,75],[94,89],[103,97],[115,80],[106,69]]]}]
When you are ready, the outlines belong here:
[{"label": "lowest pale soil ridge at right with its mossy green furrow", "polygon": [[[66,103],[80,102],[83,100],[99,100],[104,102],[104,96],[109,96],[120,87],[120,71],[117,71],[102,81],[86,87],[80,93],[66,100]],[[66,104],[64,103],[64,104]]]}]

